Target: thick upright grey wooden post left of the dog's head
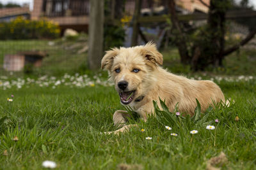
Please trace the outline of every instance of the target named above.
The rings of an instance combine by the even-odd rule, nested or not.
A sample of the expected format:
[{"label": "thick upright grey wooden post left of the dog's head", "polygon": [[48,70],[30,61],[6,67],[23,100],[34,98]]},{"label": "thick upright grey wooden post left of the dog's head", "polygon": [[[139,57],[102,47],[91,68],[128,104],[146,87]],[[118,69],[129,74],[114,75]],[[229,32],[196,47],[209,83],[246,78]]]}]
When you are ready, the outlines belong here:
[{"label": "thick upright grey wooden post left of the dog's head", "polygon": [[104,1],[90,1],[89,16],[88,65],[90,69],[99,69],[103,55]]}]

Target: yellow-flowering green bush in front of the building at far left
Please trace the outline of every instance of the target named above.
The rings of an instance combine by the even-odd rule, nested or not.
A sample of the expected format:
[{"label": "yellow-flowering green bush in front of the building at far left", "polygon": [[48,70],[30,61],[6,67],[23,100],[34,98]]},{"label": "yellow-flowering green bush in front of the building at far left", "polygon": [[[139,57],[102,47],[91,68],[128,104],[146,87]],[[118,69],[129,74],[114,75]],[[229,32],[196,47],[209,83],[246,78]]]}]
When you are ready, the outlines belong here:
[{"label": "yellow-flowering green bush in front of the building at far left", "polygon": [[54,39],[58,36],[58,25],[45,19],[26,20],[17,17],[12,22],[0,23],[0,39]]}]

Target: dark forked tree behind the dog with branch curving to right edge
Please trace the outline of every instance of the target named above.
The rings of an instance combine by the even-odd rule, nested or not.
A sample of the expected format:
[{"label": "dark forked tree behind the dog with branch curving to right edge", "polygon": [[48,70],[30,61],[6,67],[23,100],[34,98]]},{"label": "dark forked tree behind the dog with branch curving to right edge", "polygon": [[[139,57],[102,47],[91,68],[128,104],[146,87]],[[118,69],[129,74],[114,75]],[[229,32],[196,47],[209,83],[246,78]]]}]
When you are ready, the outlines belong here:
[{"label": "dark forked tree behind the dog with branch curving to right edge", "polygon": [[[204,1],[202,4],[207,6]],[[225,46],[227,10],[232,5],[231,0],[211,0],[207,24],[197,29],[193,36],[184,32],[175,11],[175,1],[169,1],[173,34],[175,43],[179,49],[180,61],[182,64],[189,64],[195,71],[204,70],[208,66],[222,66],[223,59],[228,54],[238,50],[245,45],[256,34],[256,27],[252,27],[250,33],[234,46]]]}]

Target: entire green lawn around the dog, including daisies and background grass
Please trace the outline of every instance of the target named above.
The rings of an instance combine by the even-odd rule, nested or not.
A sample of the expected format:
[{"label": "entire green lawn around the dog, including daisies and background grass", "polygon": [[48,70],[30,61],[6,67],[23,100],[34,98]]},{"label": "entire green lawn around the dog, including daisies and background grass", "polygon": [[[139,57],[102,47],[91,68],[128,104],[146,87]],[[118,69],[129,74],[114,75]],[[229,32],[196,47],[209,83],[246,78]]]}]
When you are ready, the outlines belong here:
[{"label": "entire green lawn around the dog, including daisies and background grass", "polygon": [[0,41],[0,66],[6,53],[49,53],[29,75],[0,68],[0,169],[42,169],[44,160],[57,169],[205,169],[221,152],[227,158],[222,169],[256,169],[255,50],[242,49],[225,67],[200,73],[180,65],[176,48],[164,51],[164,67],[215,81],[235,103],[209,108],[197,121],[157,111],[148,122],[130,120],[138,127],[127,133],[106,135],[101,132],[116,130],[113,113],[124,108],[107,73],[87,69],[86,52],[78,53],[86,41],[76,42]]}]

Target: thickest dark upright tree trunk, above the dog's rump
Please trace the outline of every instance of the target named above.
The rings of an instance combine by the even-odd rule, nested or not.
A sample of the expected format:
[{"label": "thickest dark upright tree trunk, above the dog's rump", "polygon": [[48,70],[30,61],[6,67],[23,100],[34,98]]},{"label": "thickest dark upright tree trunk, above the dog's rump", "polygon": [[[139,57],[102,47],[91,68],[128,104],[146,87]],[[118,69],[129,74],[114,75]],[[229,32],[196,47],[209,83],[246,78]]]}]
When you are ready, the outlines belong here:
[{"label": "thickest dark upright tree trunk, above the dog's rump", "polygon": [[[227,0],[223,0],[226,1]],[[225,48],[225,14],[227,6],[223,1],[211,0],[205,31],[202,32],[200,41],[193,45],[192,68],[204,70],[209,65],[222,66],[223,51]],[[200,52],[199,52],[200,51]]]}]

